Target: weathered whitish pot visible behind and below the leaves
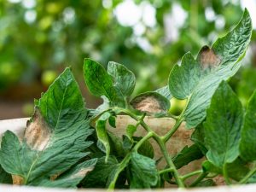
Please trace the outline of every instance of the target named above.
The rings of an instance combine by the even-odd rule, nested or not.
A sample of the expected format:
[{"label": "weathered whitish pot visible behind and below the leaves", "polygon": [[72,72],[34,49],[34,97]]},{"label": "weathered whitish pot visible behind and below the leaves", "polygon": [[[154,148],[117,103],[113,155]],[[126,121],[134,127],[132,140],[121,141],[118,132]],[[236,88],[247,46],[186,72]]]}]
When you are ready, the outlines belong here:
[{"label": "weathered whitish pot visible behind and below the leaves", "polygon": [[[26,121],[28,118],[24,119],[9,119],[9,120],[1,120],[0,121],[0,142],[1,137],[3,133],[7,130],[15,132],[19,137],[23,137],[24,130],[26,128]],[[172,126],[175,123],[174,119],[170,118],[161,118],[161,119],[154,119],[152,117],[145,117],[145,122],[151,127],[152,130],[157,132],[159,135],[164,135],[168,130],[172,128]],[[116,135],[122,136],[125,134],[125,128],[126,125],[135,125],[135,120],[125,116],[125,115],[119,115],[116,119],[116,127],[117,128],[111,128],[108,126],[109,131],[113,131]],[[189,140],[189,137],[191,135],[192,131],[188,131],[184,129],[184,126],[181,125],[179,129],[176,131],[176,133],[173,135],[172,139],[166,143],[166,147],[169,151],[169,154],[177,154],[178,151],[180,151],[185,145],[191,145],[191,141]],[[145,131],[143,130],[143,127],[138,127],[136,136],[143,136],[145,135]],[[161,156],[160,149],[158,148],[157,144],[154,143],[152,140],[152,144],[155,149],[155,159],[158,159]],[[163,166],[163,165],[160,165]],[[195,160],[194,162],[189,163],[188,166],[184,166],[182,169],[179,170],[181,174],[185,172],[191,172],[193,170],[200,169],[201,167],[201,160]],[[247,184],[247,185],[237,185],[237,186],[218,186],[218,187],[212,187],[212,188],[199,188],[199,189],[154,189],[155,191],[168,191],[168,192],[177,192],[177,191],[183,191],[183,192],[256,192],[256,184]],[[61,191],[84,191],[84,192],[92,192],[92,191],[107,191],[105,189],[49,189],[49,188],[40,188],[40,187],[26,187],[26,186],[15,186],[15,185],[5,185],[0,184],[0,191],[19,191],[19,192],[25,192],[25,191],[32,191],[32,192],[61,192]],[[118,190],[123,191],[123,190]],[[140,191],[148,191],[148,189],[140,190]]]}]

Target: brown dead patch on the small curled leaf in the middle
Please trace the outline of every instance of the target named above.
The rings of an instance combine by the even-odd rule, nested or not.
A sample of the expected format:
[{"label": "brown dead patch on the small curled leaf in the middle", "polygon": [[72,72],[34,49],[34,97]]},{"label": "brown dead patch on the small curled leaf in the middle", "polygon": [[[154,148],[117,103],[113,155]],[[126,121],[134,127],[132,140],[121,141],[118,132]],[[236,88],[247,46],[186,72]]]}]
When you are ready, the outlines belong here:
[{"label": "brown dead patch on the small curled leaf in the middle", "polygon": [[160,103],[154,98],[154,96],[141,96],[135,99],[132,103],[133,108],[148,113],[160,113],[162,108]]}]

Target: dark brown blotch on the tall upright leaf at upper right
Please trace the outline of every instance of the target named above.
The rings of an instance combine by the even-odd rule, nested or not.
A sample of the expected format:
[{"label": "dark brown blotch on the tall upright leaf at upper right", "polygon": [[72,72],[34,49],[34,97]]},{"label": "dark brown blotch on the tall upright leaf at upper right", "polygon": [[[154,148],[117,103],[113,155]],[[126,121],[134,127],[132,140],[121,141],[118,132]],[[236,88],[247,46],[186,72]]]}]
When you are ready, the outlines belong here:
[{"label": "dark brown blotch on the tall upright leaf at upper right", "polygon": [[200,62],[203,69],[217,67],[220,63],[220,58],[215,55],[212,49],[204,46],[200,51]]}]

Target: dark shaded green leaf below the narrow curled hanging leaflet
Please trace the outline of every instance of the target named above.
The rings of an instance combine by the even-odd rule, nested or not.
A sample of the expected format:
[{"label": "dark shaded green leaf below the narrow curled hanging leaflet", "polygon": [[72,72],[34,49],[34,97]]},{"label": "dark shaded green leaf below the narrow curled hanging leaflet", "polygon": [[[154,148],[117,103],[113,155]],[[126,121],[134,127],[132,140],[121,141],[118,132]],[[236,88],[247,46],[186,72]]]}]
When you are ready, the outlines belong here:
[{"label": "dark shaded green leaf below the narrow curled hanging leaflet", "polygon": [[82,187],[105,188],[110,173],[116,168],[118,163],[118,160],[114,156],[109,156],[107,163],[105,162],[105,157],[98,159],[93,171],[84,177],[81,183]]}]

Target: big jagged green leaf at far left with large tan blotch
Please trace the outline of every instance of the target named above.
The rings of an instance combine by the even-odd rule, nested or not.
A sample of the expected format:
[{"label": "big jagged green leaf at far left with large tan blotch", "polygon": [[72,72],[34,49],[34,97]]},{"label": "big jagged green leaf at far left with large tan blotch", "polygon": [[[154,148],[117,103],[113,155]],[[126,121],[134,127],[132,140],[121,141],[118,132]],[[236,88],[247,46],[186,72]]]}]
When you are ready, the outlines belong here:
[{"label": "big jagged green leaf at far left with large tan blotch", "polygon": [[67,68],[38,101],[23,141],[11,131],[4,133],[3,169],[29,185],[66,172],[88,154],[84,150],[91,143],[85,140],[93,130],[87,114],[79,86]]}]

